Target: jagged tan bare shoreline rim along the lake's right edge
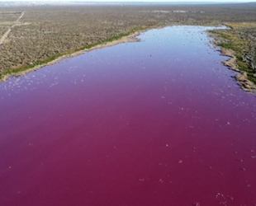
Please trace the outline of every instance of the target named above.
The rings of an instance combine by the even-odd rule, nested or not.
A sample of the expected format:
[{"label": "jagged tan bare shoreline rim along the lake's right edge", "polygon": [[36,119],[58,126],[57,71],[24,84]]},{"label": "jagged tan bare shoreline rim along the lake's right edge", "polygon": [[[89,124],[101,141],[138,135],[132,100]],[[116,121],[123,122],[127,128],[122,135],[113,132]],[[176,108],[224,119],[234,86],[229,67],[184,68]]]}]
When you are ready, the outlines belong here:
[{"label": "jagged tan bare shoreline rim along the lake's right edge", "polygon": [[244,91],[256,95],[256,85],[254,84],[254,82],[249,81],[246,72],[239,70],[239,65],[236,62],[237,57],[235,55],[235,51],[232,49],[225,49],[219,46],[218,43],[220,43],[222,40],[219,35],[211,33],[209,32],[209,30],[207,30],[206,33],[213,39],[211,40],[211,44],[213,44],[216,48],[220,48],[220,54],[226,57],[230,57],[230,59],[225,60],[222,63],[225,65],[225,67],[228,67],[238,73],[234,77],[239,87]]}]

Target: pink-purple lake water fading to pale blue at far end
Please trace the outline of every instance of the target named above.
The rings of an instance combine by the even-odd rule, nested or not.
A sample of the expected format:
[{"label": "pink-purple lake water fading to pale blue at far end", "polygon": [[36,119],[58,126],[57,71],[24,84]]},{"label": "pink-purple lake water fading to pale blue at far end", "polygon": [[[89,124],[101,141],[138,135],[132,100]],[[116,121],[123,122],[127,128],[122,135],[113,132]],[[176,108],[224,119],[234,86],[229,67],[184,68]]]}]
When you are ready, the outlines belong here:
[{"label": "pink-purple lake water fading to pale blue at far end", "polygon": [[256,205],[256,98],[206,29],[0,83],[0,205]]}]

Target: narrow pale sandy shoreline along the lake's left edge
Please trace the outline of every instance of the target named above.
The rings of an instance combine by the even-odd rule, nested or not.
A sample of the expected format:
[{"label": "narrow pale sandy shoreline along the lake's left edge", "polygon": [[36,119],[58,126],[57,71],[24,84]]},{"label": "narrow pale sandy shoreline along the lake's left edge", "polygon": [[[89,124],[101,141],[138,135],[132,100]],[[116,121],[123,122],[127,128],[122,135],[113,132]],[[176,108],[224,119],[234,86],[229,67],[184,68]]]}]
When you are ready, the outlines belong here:
[{"label": "narrow pale sandy shoreline along the lake's left edge", "polygon": [[[149,29],[151,29],[151,28],[149,28]],[[36,71],[39,68],[43,68],[45,66],[49,66],[49,65],[58,63],[59,61],[61,61],[63,59],[67,59],[69,57],[75,57],[75,56],[78,56],[80,54],[83,54],[84,52],[89,52],[89,51],[92,51],[94,49],[102,49],[102,48],[110,47],[110,46],[113,46],[113,45],[116,45],[116,44],[123,44],[123,43],[128,43],[128,42],[138,42],[140,40],[137,38],[137,36],[140,35],[141,32],[144,32],[144,31],[149,30],[149,29],[136,31],[135,33],[133,33],[131,35],[127,35],[127,36],[122,37],[120,40],[113,40],[113,41],[107,42],[105,44],[98,44],[96,46],[93,46],[91,49],[82,49],[82,50],[79,50],[78,52],[74,52],[73,54],[66,54],[66,55],[60,56],[59,58],[57,58],[53,61],[50,61],[49,63],[44,63],[44,64],[38,65],[34,68],[26,69],[25,71],[21,71],[21,72],[18,72],[18,73],[7,74],[4,77],[2,77],[2,79],[0,79],[0,82],[7,81],[7,79],[9,77],[19,77],[19,76],[24,75],[26,73]]]}]

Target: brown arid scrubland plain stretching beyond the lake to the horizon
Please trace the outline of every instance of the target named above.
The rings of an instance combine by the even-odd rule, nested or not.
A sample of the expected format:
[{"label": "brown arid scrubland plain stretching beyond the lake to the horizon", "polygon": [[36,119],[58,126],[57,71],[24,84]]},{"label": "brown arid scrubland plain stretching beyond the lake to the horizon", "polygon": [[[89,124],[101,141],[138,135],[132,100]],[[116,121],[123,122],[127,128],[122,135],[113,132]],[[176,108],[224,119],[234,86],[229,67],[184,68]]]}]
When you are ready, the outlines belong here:
[{"label": "brown arid scrubland plain stretching beyond the lake to the horizon", "polygon": [[[239,40],[239,49],[235,49],[239,68],[249,72],[249,80],[256,82],[255,21],[255,3],[1,7],[1,37],[11,30],[0,44],[0,75],[33,68],[143,28],[230,23],[232,29],[222,30],[219,35]],[[246,26],[243,22],[247,22]]]}]

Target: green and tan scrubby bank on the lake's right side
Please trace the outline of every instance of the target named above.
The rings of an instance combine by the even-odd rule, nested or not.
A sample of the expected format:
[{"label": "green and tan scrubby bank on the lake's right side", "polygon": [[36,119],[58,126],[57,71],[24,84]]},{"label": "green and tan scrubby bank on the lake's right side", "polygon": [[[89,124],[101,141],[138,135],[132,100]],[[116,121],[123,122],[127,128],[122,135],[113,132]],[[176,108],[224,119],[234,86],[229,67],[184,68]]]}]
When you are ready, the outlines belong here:
[{"label": "green and tan scrubby bank on the lake's right side", "polygon": [[211,30],[209,34],[215,39],[214,43],[221,48],[221,54],[229,56],[225,66],[239,72],[235,76],[239,86],[256,94],[256,23],[226,22],[228,30]]}]

